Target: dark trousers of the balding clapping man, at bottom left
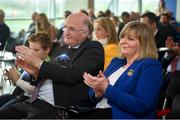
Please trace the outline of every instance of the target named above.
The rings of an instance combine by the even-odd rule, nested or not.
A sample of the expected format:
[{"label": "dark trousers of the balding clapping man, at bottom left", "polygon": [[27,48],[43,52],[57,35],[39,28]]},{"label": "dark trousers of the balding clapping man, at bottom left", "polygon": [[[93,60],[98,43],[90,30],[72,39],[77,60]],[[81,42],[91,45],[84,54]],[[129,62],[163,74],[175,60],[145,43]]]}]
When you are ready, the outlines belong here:
[{"label": "dark trousers of the balding clapping man, at bottom left", "polygon": [[35,100],[33,103],[29,99],[18,102],[5,110],[0,110],[0,118],[54,118],[54,107],[42,100]]}]

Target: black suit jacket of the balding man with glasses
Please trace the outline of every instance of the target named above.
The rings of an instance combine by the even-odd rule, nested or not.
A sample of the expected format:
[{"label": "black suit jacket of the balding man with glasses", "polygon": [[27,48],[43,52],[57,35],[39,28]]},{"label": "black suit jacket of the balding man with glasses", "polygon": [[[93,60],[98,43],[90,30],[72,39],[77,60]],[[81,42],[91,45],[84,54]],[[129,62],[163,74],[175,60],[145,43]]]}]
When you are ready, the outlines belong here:
[{"label": "black suit jacket of the balding man with glasses", "polygon": [[[43,62],[38,78],[49,78],[53,81],[56,105],[92,106],[88,97],[89,87],[83,81],[83,73],[97,75],[99,70],[103,70],[102,45],[97,41],[85,40],[77,49],[64,47],[58,52],[59,56],[53,60],[55,63]],[[62,61],[59,60],[61,56],[64,57]]]}]

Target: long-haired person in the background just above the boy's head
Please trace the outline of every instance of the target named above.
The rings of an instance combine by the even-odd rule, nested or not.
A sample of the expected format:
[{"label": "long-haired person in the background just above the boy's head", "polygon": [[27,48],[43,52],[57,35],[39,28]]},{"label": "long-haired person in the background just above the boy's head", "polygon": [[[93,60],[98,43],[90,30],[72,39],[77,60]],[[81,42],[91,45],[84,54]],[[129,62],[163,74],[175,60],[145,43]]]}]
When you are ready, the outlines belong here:
[{"label": "long-haired person in the background just above the boy's head", "polygon": [[37,32],[46,32],[50,36],[52,42],[57,39],[57,29],[48,21],[44,13],[40,13],[37,16]]}]

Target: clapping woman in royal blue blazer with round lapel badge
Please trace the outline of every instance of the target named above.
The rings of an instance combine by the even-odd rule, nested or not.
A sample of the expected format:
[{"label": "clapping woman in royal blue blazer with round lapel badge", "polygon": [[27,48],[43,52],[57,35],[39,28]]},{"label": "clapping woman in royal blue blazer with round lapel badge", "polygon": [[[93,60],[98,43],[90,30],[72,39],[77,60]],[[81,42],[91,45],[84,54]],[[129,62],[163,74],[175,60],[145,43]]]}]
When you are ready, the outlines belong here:
[{"label": "clapping woman in royal blue blazer with round lapel badge", "polygon": [[122,58],[114,58],[104,73],[83,75],[97,103],[89,118],[156,118],[163,79],[153,32],[134,21],[125,25],[119,38]]}]

